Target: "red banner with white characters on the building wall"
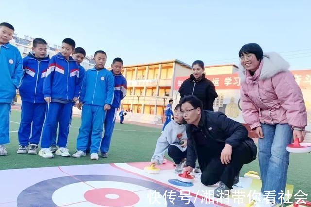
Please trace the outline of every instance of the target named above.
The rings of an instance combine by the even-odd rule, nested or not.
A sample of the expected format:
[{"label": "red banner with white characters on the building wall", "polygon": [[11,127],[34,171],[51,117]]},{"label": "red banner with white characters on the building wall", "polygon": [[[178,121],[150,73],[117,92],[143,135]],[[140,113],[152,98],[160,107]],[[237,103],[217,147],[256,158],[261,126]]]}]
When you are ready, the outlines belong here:
[{"label": "red banner with white characters on the building wall", "polygon": [[[311,88],[311,70],[292,70],[297,84],[301,89]],[[174,90],[178,90],[181,84],[188,77],[176,77],[174,82]],[[211,80],[216,89],[219,90],[234,90],[240,89],[241,80],[237,73],[225,75],[207,75],[206,78]]]}]

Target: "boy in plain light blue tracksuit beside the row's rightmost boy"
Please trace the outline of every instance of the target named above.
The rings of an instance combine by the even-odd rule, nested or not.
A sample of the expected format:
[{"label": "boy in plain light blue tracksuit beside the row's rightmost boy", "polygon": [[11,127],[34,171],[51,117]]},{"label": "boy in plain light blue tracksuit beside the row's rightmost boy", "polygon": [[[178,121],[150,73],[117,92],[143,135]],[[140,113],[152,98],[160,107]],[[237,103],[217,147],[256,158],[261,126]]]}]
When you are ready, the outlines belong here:
[{"label": "boy in plain light blue tracksuit beside the row's rightmost boy", "polygon": [[86,155],[89,135],[91,133],[91,160],[98,160],[98,150],[103,133],[106,111],[111,108],[114,96],[113,74],[104,68],[107,55],[104,51],[96,51],[96,66],[86,71],[80,93],[78,108],[82,108],[81,126],[77,138],[77,152],[73,157]]}]

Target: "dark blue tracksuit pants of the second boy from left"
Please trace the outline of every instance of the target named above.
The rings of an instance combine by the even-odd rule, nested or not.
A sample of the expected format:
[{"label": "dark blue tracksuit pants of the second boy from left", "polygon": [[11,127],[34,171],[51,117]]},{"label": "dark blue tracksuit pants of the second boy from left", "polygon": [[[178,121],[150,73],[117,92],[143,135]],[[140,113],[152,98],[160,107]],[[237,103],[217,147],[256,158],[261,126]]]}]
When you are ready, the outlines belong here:
[{"label": "dark blue tracksuit pants of the second boy from left", "polygon": [[20,146],[28,146],[29,143],[39,144],[46,108],[46,103],[22,102],[21,121],[18,130]]}]

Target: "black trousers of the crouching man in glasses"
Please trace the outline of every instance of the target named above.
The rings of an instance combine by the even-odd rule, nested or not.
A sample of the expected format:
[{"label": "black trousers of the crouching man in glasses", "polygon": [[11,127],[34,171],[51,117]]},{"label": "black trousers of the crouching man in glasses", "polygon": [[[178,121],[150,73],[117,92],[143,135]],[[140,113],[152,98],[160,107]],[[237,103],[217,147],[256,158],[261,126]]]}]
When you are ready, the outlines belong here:
[{"label": "black trousers of the crouching man in glasses", "polygon": [[232,189],[234,177],[238,175],[242,166],[253,161],[251,149],[242,143],[233,148],[230,163],[228,165],[222,164],[220,154],[224,146],[225,143],[214,144],[214,146],[208,147],[212,150],[208,150],[206,147],[197,147],[198,162],[202,171],[202,184],[209,186],[221,181]]}]

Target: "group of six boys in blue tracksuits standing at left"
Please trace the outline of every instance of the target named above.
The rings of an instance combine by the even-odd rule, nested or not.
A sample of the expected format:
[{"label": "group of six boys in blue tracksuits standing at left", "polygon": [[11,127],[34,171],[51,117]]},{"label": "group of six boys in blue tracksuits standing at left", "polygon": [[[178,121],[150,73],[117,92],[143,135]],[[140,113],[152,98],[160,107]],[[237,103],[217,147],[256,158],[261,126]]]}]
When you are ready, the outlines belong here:
[{"label": "group of six boys in blue tracksuits standing at left", "polygon": [[94,54],[95,67],[86,71],[80,65],[86,52],[75,47],[75,41],[70,38],[63,40],[60,52],[51,58],[46,41],[36,38],[32,52],[22,59],[19,50],[9,43],[13,34],[11,24],[0,24],[0,156],[7,155],[4,144],[9,143],[10,107],[19,89],[22,112],[18,154],[37,154],[42,137],[40,156],[53,158],[52,152],[71,156],[67,138],[72,108],[79,101],[82,122],[77,152],[72,157],[79,158],[89,152],[92,160],[98,160],[99,151],[102,157],[108,157],[116,114],[126,96],[122,59],[115,58],[108,71],[107,54],[98,50]]}]

